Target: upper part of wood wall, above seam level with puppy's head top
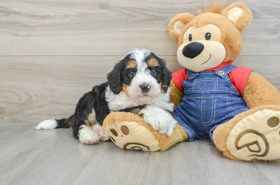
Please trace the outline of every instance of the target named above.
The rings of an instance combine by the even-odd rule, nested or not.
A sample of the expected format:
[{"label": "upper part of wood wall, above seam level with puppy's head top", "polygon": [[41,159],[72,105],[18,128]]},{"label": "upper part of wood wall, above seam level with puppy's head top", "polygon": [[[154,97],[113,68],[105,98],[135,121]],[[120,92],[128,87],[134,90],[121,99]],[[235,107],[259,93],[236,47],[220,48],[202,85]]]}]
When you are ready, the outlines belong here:
[{"label": "upper part of wood wall, above seam level with puppy's head top", "polygon": [[[197,15],[205,2],[212,0],[0,1],[0,55],[125,55],[135,47],[176,55],[169,20]],[[280,1],[242,2],[253,21],[241,55],[280,55]]]}]

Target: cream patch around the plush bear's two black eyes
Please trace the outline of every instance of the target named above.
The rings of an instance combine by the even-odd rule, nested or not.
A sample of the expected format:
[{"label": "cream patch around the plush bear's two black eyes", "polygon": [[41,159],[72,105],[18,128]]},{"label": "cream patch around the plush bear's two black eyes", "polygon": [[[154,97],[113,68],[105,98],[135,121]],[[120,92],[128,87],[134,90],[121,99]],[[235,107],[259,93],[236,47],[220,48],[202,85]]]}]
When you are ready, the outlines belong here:
[{"label": "cream patch around the plush bear's two black eyes", "polygon": [[222,32],[218,26],[215,26],[213,24],[207,24],[202,27],[195,27],[191,26],[189,29],[184,34],[183,37],[183,43],[190,42],[189,41],[189,35],[191,34],[192,40],[191,41],[196,41],[196,40],[205,40],[205,34],[210,33],[211,38],[209,41],[214,40],[221,42],[222,40]]}]

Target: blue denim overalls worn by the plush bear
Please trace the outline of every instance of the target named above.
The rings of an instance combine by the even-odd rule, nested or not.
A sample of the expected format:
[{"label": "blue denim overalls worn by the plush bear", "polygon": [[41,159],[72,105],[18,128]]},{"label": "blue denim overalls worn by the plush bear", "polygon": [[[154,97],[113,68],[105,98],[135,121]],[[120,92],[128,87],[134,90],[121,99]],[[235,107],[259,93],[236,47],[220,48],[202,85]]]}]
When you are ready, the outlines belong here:
[{"label": "blue denim overalls worn by the plush bear", "polygon": [[235,68],[226,65],[217,71],[200,73],[187,69],[189,81],[183,81],[184,97],[174,109],[174,116],[189,135],[189,141],[205,137],[213,141],[212,133],[217,126],[249,110],[227,75]]}]

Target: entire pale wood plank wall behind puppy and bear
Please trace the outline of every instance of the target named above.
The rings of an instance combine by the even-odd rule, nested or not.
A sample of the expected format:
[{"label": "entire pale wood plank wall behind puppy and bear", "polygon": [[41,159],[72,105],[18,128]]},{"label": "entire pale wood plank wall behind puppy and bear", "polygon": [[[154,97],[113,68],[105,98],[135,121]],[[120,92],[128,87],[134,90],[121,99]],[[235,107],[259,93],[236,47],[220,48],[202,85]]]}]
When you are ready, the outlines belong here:
[{"label": "entire pale wood plank wall behind puppy and bear", "polygon": [[[241,33],[234,65],[254,69],[280,90],[280,2],[242,2],[253,21]],[[153,51],[172,72],[181,69],[168,22],[179,13],[196,15],[204,3],[211,1],[0,1],[0,122],[68,117],[132,48]]]}]

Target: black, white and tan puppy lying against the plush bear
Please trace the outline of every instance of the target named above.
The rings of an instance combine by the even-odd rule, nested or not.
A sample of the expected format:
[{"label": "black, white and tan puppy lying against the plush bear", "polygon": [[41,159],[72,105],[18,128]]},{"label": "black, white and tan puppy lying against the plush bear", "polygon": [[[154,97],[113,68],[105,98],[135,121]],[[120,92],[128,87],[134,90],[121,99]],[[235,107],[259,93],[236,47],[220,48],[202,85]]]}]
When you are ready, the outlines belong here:
[{"label": "black, white and tan puppy lying against the plush bear", "polygon": [[177,121],[169,102],[171,72],[165,62],[145,49],[135,49],[119,61],[107,75],[107,82],[96,85],[79,100],[69,118],[41,122],[36,129],[71,128],[75,138],[93,144],[109,139],[101,131],[112,111],[133,112],[160,133],[171,135]]}]

